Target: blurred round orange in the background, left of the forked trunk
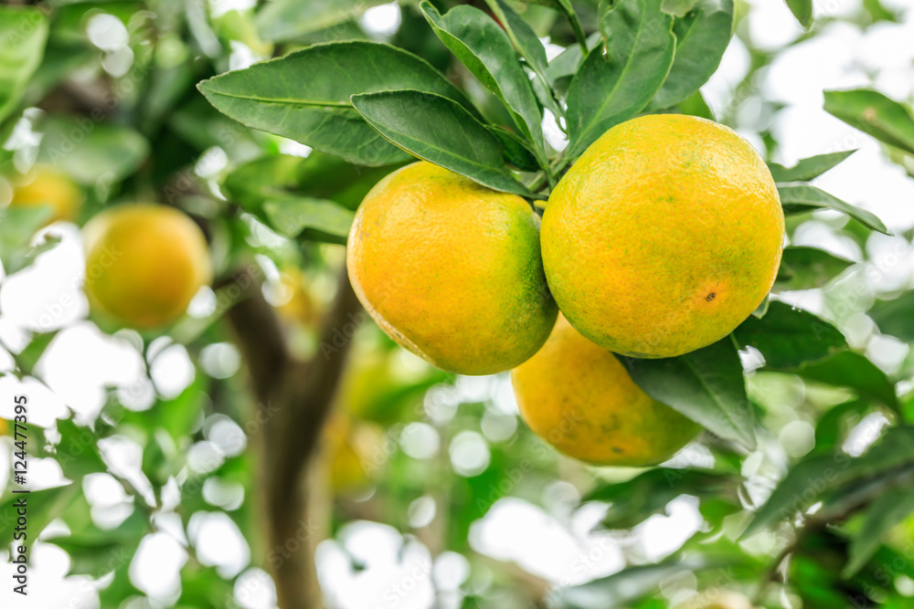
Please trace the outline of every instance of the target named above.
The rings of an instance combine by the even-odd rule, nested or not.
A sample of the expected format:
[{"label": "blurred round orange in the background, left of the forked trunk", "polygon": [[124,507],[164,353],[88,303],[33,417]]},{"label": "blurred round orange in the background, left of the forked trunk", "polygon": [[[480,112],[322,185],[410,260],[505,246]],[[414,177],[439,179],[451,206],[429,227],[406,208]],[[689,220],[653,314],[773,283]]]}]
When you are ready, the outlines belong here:
[{"label": "blurred round orange in the background, left of the forked trunk", "polygon": [[92,308],[132,328],[176,320],[212,280],[206,238],[174,207],[113,207],[90,220],[83,242]]}]

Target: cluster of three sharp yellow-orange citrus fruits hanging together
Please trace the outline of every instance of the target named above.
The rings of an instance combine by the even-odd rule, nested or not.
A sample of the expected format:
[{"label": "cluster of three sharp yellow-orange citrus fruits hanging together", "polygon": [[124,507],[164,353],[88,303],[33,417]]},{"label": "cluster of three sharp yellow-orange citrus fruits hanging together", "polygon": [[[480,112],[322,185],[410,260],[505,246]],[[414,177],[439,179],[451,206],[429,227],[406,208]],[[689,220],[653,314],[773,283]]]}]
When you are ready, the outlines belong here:
[{"label": "cluster of three sharp yellow-orange citrus fruits hanging together", "polygon": [[613,353],[692,352],[760,305],[783,247],[771,173],[724,126],[646,115],[590,145],[541,225],[519,196],[414,163],[359,207],[349,277],[381,328],[431,364],[514,368],[521,415],[559,450],[605,465],[663,461],[698,427]]}]

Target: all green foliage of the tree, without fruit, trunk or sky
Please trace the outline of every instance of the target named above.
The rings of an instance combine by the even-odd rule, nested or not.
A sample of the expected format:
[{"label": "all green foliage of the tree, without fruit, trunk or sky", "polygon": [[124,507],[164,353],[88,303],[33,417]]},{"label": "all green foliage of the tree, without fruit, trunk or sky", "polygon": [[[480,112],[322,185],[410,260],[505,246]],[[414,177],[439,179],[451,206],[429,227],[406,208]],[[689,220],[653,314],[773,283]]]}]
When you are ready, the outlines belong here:
[{"label": "all green foliage of the tree, without fruit, trunk or sky", "polygon": [[[341,539],[352,522],[377,520],[405,540],[420,539],[436,556],[462,554],[470,568],[456,596],[463,607],[529,600],[648,609],[690,586],[740,591],[765,607],[796,606],[797,599],[813,608],[908,606],[914,365],[880,367],[848,331],[848,320],[868,315],[886,336],[914,341],[914,291],[864,287],[865,298],[851,299],[863,285],[859,277],[875,268],[868,250],[851,260],[790,245],[767,309],[726,339],[669,360],[627,359],[648,394],[707,430],[680,456],[647,470],[584,467],[547,450],[505,412],[504,378],[475,385],[454,379],[410,360],[369,324],[341,334],[340,344],[336,336],[322,342],[311,319],[316,313],[309,317],[330,306],[359,201],[413,158],[541,208],[569,165],[613,125],[645,112],[712,117],[701,89],[734,33],[749,47],[751,68],[739,86],[745,95],[717,119],[733,121],[747,100],[771,110],[773,102],[753,83],[775,56],[751,46],[745,5],[424,1],[400,5],[399,29],[378,35],[362,19],[377,4],[274,0],[223,13],[165,0],[0,7],[0,175],[12,180],[36,159],[57,165],[85,189],[80,226],[124,201],[176,205],[206,227],[220,276],[253,269],[268,293],[282,291],[281,272],[300,272],[306,285],[295,295],[298,317],[280,306],[291,295],[273,299],[286,315],[282,329],[290,351],[303,359],[351,347],[335,398],[335,412],[349,422],[339,444],[358,457],[359,479],[371,490],[331,491],[314,482],[324,495],[333,493],[322,534]],[[861,26],[892,18],[875,0],[865,4],[855,17]],[[815,37],[813,3],[786,5],[810,30],[804,37]],[[90,35],[100,15],[120,24],[120,46]],[[911,173],[908,101],[870,89],[826,91],[824,109],[875,138],[899,171]],[[544,130],[553,124],[560,142]],[[813,219],[858,245],[890,235],[877,215],[817,185],[854,151],[824,150],[785,167],[771,161],[774,135],[763,135],[768,150],[760,152],[778,183],[789,238]],[[41,230],[49,214],[47,207],[0,210],[0,292],[57,245],[54,226]],[[806,290],[854,306],[815,315],[788,304]],[[151,397],[143,403],[110,387],[101,412],[86,417],[67,409],[47,429],[27,426],[30,457],[53,459],[64,477],[61,486],[31,494],[30,534],[52,521],[65,525],[43,541],[67,552],[69,574],[104,580],[103,607],[147,595],[127,566],[163,519],[184,536],[198,515],[224,514],[249,542],[251,565],[270,570],[275,559],[262,541],[257,507],[262,453],[254,445],[262,442],[262,411],[245,373],[211,365],[218,349],[238,354],[228,347],[237,337],[223,321],[240,297],[224,285],[209,296],[212,310],[167,331],[119,332],[91,317],[107,337],[131,345],[143,363],[141,388]],[[60,325],[66,324],[27,329],[21,345],[0,344],[11,361],[0,372],[5,380],[49,383],[42,362],[59,332],[68,331]],[[192,380],[176,395],[154,384],[166,345],[194,364]],[[247,435],[240,449],[219,444],[220,422]],[[814,426],[814,443],[794,446],[790,424],[811,433]],[[505,425],[507,432],[496,433]],[[874,428],[875,443],[857,446],[860,434]],[[410,456],[410,429],[430,429],[440,440],[434,457]],[[448,459],[467,437],[483,442],[488,456],[469,471]],[[116,442],[142,455],[136,476],[104,449]],[[317,457],[327,470],[329,445],[324,439]],[[201,463],[205,450],[215,457]],[[86,490],[99,477],[128,498],[127,513],[113,526],[101,526]],[[584,499],[564,512],[548,505],[544,488],[557,484]],[[13,488],[8,481],[0,515],[12,505]],[[243,500],[213,488],[240,488]],[[433,524],[409,516],[423,498],[437,506]],[[626,550],[621,571],[543,593],[531,583],[537,577],[490,560],[474,544],[473,527],[505,498],[551,509],[565,523],[571,512],[602,506],[596,532],[622,548],[677,502],[691,502],[702,524],[662,557]],[[0,537],[5,544],[12,539],[6,520]],[[154,602],[237,606],[239,573],[201,560],[196,543],[193,536],[186,541],[180,592]],[[364,567],[354,555],[346,559],[354,572]]]}]

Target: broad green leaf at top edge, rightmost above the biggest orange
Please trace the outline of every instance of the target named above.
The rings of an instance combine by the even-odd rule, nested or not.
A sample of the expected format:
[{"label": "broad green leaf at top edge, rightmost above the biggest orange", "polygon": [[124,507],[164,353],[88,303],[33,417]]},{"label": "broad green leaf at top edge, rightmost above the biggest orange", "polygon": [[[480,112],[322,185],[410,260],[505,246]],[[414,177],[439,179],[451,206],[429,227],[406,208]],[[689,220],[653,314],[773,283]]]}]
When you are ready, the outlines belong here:
[{"label": "broad green leaf at top edge, rightmost above the biggest orange", "polygon": [[733,35],[733,0],[700,0],[673,23],[676,53],[664,86],[648,110],[674,106],[711,78]]}]

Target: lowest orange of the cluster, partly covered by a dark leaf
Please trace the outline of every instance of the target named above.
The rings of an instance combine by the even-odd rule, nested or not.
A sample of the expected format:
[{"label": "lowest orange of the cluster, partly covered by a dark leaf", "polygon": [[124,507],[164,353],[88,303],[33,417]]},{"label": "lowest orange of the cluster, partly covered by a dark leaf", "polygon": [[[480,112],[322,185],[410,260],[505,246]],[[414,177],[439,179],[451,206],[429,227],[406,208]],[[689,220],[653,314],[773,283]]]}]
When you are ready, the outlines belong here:
[{"label": "lowest orange of the cluster, partly covered by a dark leaf", "polygon": [[645,394],[611,352],[558,316],[543,348],[511,372],[526,425],[569,457],[600,466],[662,463],[700,427]]}]

